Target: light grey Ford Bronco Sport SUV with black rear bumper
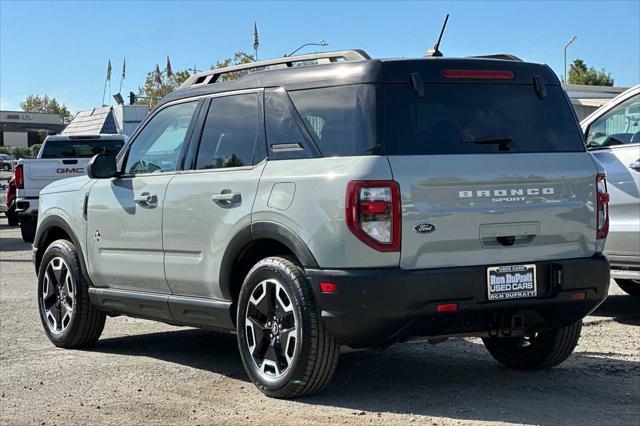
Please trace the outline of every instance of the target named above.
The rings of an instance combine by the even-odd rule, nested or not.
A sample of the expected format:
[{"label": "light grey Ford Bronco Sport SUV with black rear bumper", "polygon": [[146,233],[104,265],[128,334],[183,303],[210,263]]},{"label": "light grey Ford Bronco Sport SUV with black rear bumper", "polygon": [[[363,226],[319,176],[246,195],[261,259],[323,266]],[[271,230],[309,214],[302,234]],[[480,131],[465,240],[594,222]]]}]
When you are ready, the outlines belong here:
[{"label": "light grey Ford Bronco Sport SUV with black rear bumper", "polygon": [[340,345],[479,336],[509,368],[561,363],[607,296],[606,181],[551,69],[511,58],[192,76],[41,192],[48,337],[91,346],[121,314],[233,332],[278,398],[321,390]]}]

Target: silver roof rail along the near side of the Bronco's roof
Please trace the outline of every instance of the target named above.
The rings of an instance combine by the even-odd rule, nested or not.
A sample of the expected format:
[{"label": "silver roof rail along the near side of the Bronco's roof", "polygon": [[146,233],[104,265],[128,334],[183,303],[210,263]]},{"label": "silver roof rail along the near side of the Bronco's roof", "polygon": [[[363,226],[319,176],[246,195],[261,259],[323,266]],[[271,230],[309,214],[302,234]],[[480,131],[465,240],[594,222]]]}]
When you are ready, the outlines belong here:
[{"label": "silver roof rail along the near side of the Bronco's roof", "polygon": [[366,61],[371,57],[361,49],[354,50],[340,50],[335,52],[323,52],[323,53],[311,53],[307,55],[297,56],[285,56],[276,59],[267,59],[264,61],[249,62],[247,64],[234,65],[232,67],[216,68],[214,70],[204,71],[198,74],[194,74],[185,80],[180,86],[180,89],[186,89],[188,87],[213,84],[218,81],[218,78],[223,74],[229,74],[239,71],[256,70],[263,71],[264,69],[280,69],[291,68],[297,62],[305,61],[317,61],[318,64],[329,64],[335,62],[356,62]]}]

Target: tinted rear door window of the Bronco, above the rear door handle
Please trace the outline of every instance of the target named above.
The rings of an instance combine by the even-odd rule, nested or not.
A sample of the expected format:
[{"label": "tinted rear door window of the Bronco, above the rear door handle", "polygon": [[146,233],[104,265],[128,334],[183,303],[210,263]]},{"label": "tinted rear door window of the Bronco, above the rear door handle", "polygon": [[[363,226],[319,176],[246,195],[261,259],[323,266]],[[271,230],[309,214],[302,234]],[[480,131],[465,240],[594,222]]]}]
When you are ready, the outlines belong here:
[{"label": "tinted rear door window of the Bronco, above the rear door handle", "polygon": [[253,164],[260,136],[258,94],[213,98],[207,113],[196,168],[219,169]]}]

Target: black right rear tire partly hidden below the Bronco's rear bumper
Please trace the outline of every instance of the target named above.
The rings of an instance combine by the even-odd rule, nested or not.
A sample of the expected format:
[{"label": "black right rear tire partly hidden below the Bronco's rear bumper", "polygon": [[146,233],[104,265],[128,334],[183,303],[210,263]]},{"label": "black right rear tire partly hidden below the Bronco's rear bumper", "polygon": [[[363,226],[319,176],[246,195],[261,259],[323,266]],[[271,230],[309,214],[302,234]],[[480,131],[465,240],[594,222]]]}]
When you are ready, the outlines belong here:
[{"label": "black right rear tire partly hidden below the Bronco's rear bumper", "polygon": [[575,324],[523,337],[490,337],[482,339],[489,353],[505,367],[515,370],[541,370],[563,362],[571,355],[582,330]]}]

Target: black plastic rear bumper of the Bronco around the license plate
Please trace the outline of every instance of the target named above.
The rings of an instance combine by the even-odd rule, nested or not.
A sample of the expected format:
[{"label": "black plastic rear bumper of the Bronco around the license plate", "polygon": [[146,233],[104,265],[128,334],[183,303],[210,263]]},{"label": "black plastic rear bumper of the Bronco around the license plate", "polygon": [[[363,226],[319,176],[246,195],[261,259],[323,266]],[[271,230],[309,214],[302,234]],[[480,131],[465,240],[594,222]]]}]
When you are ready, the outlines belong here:
[{"label": "black plastic rear bumper of the Bronco around the license plate", "polygon": [[[325,326],[339,343],[354,348],[413,337],[510,334],[570,324],[607,297],[609,262],[602,254],[535,263],[538,296],[510,301],[488,301],[489,265],[306,272]],[[321,282],[335,283],[336,292],[323,294]],[[457,311],[437,312],[440,304],[456,304]]]}]

